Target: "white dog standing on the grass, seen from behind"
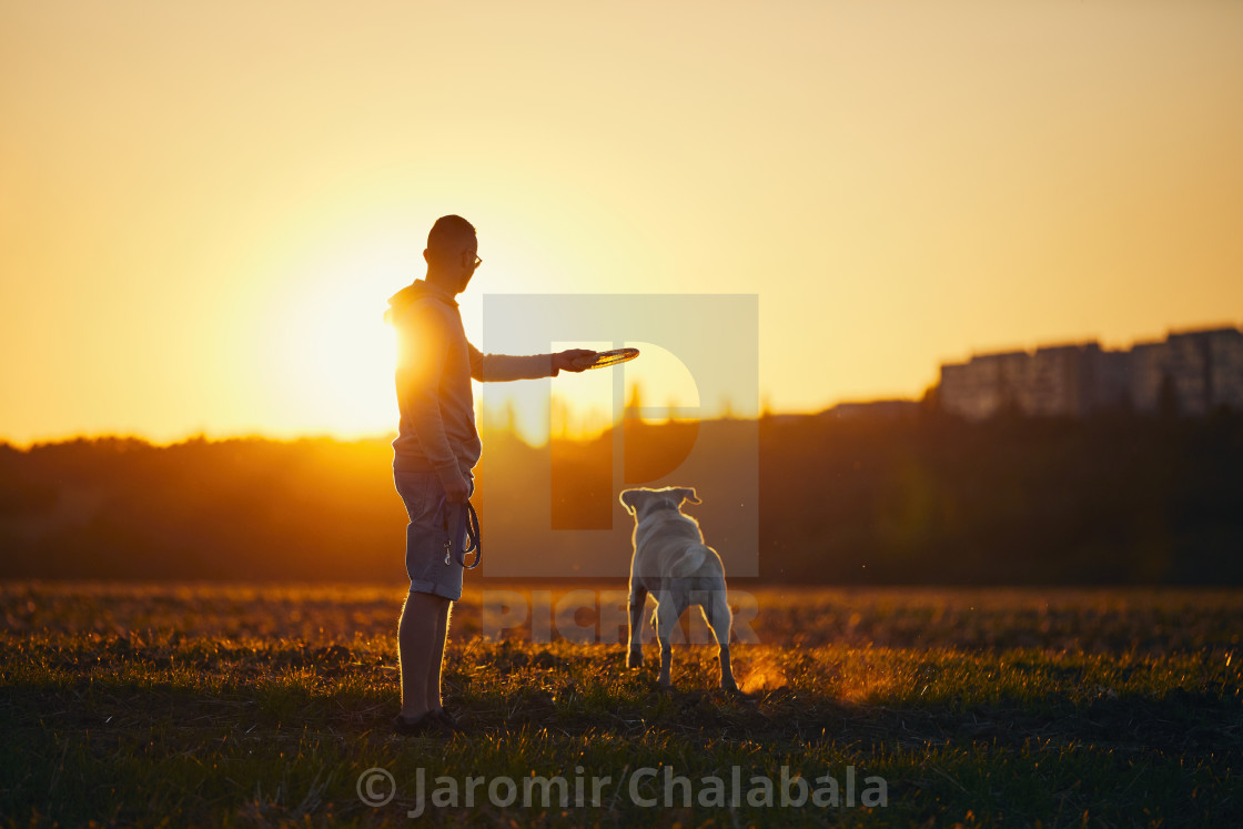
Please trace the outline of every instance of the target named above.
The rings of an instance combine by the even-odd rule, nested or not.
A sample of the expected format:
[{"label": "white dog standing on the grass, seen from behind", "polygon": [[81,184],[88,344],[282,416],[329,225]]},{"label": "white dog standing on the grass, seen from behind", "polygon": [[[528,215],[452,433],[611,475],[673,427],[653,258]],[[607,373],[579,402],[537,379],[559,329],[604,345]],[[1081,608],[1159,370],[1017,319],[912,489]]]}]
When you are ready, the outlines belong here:
[{"label": "white dog standing on the grass, seen from behind", "polygon": [[733,615],[725,593],[725,566],[704,544],[699,523],[681,513],[684,501],[701,503],[695,490],[625,490],[623,506],[634,516],[634,558],[630,559],[630,654],[628,667],[643,665],[643,605],[648,593],[656,600],[656,638],[660,639],[660,684],[670,687],[672,661],[670,633],[682,611],[697,604],[721,655],[721,687],[737,691],[730,670],[730,625]]}]

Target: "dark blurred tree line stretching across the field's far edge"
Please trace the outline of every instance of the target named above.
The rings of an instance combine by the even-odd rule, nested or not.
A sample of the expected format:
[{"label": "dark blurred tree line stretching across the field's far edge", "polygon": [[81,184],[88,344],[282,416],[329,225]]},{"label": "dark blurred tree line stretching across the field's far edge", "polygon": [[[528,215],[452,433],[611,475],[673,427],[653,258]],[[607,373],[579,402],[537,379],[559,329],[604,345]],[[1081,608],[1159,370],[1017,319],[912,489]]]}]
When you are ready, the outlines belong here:
[{"label": "dark blurred tree line stretching across the field's far edge", "polygon": [[[697,434],[717,430],[712,445],[728,446],[736,428],[709,421]],[[818,415],[763,418],[758,434],[766,582],[1243,584],[1238,414],[983,424],[932,411]],[[626,517],[598,469],[612,435],[551,454],[505,434],[485,440],[480,513],[492,548],[564,561],[567,574],[585,556],[628,561]],[[633,429],[628,464],[685,455],[689,440],[685,425]],[[547,492],[530,485],[549,457],[556,490],[582,493],[584,510],[589,500],[592,521],[617,511],[598,548],[525,547],[523,522],[549,517]],[[405,513],[390,461],[382,439],[0,444],[0,577],[397,582]],[[728,451],[704,464],[701,480],[663,482],[711,492],[732,474]],[[728,510],[710,497],[689,508],[710,544]]]}]

